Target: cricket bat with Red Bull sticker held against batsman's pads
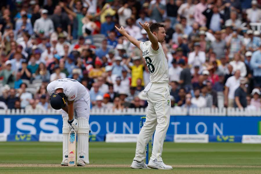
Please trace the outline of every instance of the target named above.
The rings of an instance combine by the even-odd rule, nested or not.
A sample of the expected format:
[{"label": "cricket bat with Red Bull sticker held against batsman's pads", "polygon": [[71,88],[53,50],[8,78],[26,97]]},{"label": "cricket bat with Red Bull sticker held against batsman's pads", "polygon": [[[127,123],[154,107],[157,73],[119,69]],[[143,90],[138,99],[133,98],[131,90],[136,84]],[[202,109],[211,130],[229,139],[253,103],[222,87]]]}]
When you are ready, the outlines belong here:
[{"label": "cricket bat with Red Bull sticker held against batsman's pads", "polygon": [[76,132],[70,131],[69,142],[68,142],[68,166],[75,166],[75,157],[76,157]]}]

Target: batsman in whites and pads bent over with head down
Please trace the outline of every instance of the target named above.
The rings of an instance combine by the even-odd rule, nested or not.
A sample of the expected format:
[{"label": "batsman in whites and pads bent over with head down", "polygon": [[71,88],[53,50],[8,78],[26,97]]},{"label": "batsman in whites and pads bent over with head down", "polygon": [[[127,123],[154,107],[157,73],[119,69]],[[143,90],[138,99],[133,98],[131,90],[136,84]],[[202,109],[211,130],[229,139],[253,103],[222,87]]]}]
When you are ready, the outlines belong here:
[{"label": "batsman in whites and pads bent over with head down", "polygon": [[[68,166],[68,137],[70,130],[78,134],[77,166],[89,164],[89,116],[90,95],[86,88],[77,80],[64,78],[52,81],[47,86],[51,95],[52,108],[61,110],[63,117],[63,161]],[[77,115],[77,118],[74,117]]]}]

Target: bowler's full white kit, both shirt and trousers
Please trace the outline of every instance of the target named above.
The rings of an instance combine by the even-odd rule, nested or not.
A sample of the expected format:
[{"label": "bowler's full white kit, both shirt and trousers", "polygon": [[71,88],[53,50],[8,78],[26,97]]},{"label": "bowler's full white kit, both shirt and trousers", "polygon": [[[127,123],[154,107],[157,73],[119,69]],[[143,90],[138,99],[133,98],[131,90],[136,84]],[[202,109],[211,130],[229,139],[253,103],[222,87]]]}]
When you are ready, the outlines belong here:
[{"label": "bowler's full white kit, both shirt and trousers", "polygon": [[162,148],[170,119],[170,86],[168,84],[168,62],[160,43],[153,50],[151,41],[140,43],[142,56],[150,72],[150,83],[144,89],[148,108],[146,121],[142,127],[136,146],[134,160],[142,161],[146,157],[145,146],[155,131],[151,160],[162,161]]}]

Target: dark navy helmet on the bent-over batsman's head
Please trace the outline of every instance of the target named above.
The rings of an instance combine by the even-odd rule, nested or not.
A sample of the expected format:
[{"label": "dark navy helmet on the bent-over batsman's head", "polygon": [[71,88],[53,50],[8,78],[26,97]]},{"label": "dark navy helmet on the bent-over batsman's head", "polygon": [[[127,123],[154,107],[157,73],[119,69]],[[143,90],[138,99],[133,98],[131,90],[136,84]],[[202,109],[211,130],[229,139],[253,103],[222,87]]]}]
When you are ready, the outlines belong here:
[{"label": "dark navy helmet on the bent-over batsman's head", "polygon": [[50,104],[52,108],[59,110],[66,106],[67,97],[64,93],[52,93],[50,97]]}]

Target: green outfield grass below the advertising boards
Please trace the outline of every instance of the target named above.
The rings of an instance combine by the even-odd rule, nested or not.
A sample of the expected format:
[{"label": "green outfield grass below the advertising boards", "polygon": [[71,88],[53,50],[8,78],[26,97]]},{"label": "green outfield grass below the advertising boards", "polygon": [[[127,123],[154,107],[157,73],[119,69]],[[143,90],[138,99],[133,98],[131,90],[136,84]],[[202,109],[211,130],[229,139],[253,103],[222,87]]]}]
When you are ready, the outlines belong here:
[{"label": "green outfield grass below the advertising boards", "polygon": [[[135,155],[135,146],[135,143],[90,142],[90,164],[130,165]],[[18,164],[60,164],[62,143],[0,142],[0,149],[0,173],[261,173],[260,144],[165,142],[162,157],[165,164],[176,165],[172,171],[108,166],[16,167]],[[3,164],[13,165],[6,167]]]}]

